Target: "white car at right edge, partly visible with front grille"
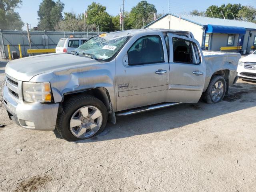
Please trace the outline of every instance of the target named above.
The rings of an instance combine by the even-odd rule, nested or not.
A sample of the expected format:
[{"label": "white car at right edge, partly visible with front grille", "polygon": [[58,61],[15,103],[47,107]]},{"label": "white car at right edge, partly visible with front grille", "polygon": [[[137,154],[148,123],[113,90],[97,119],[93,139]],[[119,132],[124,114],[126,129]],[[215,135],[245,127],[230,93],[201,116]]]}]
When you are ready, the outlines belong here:
[{"label": "white car at right edge, partly visible with front grille", "polygon": [[241,79],[256,81],[256,51],[239,60],[237,72]]}]

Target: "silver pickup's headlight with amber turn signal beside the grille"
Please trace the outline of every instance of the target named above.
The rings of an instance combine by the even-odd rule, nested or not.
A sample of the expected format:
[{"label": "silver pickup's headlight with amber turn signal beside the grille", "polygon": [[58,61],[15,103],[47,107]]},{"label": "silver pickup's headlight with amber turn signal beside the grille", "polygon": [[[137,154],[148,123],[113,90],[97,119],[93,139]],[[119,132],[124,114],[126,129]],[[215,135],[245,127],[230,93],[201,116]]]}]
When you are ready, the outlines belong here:
[{"label": "silver pickup's headlight with amber turn signal beside the grille", "polygon": [[51,86],[49,82],[23,82],[22,92],[25,102],[52,102]]}]

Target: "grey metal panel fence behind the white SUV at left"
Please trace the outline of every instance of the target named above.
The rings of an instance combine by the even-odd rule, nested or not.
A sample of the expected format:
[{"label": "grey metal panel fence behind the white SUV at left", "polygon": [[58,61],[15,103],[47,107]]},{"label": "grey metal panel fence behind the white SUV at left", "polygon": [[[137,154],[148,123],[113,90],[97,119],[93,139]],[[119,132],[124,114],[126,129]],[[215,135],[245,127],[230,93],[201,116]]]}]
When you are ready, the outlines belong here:
[{"label": "grey metal panel fence behind the white SUV at left", "polygon": [[[32,49],[52,49],[58,44],[60,38],[68,38],[73,35],[75,38],[91,38],[104,32],[59,32],[59,31],[32,31],[30,32]],[[20,44],[22,56],[28,56],[28,33],[26,31],[6,31],[0,30],[0,53],[1,58],[8,57],[7,45],[10,45],[10,51],[16,51],[19,55]]]}]

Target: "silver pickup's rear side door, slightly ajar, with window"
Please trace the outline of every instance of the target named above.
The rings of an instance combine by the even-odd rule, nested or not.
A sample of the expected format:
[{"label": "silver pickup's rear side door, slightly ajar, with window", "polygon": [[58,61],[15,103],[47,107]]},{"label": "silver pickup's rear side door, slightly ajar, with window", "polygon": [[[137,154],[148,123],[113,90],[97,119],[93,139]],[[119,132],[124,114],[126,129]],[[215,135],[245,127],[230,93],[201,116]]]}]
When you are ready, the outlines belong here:
[{"label": "silver pickup's rear side door, slightly ajar, with window", "polygon": [[168,102],[196,103],[200,99],[206,66],[199,43],[191,38],[168,34],[170,76]]}]

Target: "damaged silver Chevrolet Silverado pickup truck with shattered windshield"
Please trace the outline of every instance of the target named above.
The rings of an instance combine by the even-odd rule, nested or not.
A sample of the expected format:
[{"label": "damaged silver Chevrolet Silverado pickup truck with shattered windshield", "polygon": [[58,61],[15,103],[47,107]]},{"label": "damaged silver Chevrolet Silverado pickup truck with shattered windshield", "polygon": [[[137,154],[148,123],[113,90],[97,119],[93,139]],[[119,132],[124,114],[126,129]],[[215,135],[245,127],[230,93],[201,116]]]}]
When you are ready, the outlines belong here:
[{"label": "damaged silver Chevrolet Silverado pickup truck with shattered windshield", "polygon": [[240,54],[202,51],[190,32],[126,30],[95,36],[75,54],[6,66],[4,104],[24,128],[90,138],[107,120],[180,103],[218,103],[237,80]]}]

